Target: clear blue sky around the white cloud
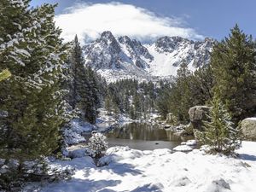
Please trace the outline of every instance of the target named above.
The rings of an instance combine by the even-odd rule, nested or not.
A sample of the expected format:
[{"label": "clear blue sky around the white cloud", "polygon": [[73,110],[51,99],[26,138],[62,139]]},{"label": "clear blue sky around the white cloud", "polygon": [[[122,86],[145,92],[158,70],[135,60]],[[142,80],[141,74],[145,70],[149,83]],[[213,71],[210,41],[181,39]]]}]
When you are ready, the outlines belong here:
[{"label": "clear blue sky around the white cloud", "polygon": [[[56,9],[56,15],[61,15],[65,13],[67,7],[71,7],[75,3],[94,4],[111,2],[113,1],[32,0],[32,6],[42,3],[59,3],[59,7]],[[253,37],[256,37],[255,0],[126,0],[115,2],[131,4],[134,7],[147,9],[153,12],[155,17],[170,17],[172,20],[178,20],[178,27],[193,29],[193,32],[196,33],[193,37],[195,35],[201,35],[220,40],[228,35],[230,28],[235,26],[236,23],[238,23],[244,32],[253,34]],[[173,26],[173,22],[170,25]]]}]

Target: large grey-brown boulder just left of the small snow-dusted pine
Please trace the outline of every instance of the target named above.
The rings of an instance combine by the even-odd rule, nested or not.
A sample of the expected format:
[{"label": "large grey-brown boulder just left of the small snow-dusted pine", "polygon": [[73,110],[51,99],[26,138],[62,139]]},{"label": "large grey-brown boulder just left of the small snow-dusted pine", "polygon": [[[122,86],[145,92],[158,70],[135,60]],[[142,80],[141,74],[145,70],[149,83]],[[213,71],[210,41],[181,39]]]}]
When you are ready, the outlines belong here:
[{"label": "large grey-brown boulder just left of the small snow-dusted pine", "polygon": [[189,119],[194,129],[202,131],[202,121],[207,120],[207,114],[210,112],[207,106],[195,106],[189,108]]}]

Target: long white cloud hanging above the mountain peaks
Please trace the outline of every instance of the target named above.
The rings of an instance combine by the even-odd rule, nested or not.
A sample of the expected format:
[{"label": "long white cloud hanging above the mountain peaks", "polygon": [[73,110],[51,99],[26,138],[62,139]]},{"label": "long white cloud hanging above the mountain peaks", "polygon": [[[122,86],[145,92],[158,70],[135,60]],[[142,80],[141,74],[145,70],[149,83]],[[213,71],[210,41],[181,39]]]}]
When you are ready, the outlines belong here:
[{"label": "long white cloud hanging above the mountain peaks", "polygon": [[142,41],[162,36],[203,38],[194,29],[184,27],[179,18],[160,17],[147,9],[123,3],[79,3],[67,9],[66,14],[55,16],[55,22],[67,41],[73,40],[75,34],[82,42],[94,40],[104,31]]}]

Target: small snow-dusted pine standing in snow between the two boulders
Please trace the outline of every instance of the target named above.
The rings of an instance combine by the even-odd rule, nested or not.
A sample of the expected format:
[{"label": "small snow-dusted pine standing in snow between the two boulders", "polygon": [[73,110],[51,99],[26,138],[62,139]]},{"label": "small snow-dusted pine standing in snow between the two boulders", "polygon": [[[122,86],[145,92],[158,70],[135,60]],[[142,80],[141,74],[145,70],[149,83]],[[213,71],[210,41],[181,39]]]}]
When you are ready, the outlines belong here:
[{"label": "small snow-dusted pine standing in snow between the two boulders", "polygon": [[204,131],[199,133],[202,144],[209,147],[210,153],[232,154],[241,145],[239,128],[234,127],[230,114],[218,96],[213,96],[209,121],[203,122]]}]

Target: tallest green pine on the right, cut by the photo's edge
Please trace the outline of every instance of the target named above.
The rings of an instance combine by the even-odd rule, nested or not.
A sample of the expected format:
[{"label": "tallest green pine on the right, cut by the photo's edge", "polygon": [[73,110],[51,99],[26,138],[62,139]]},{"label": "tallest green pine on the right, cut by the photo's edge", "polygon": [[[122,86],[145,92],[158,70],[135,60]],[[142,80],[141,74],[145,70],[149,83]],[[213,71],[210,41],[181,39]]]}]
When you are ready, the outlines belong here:
[{"label": "tallest green pine on the right, cut by the photo's edge", "polygon": [[213,47],[214,92],[237,123],[256,113],[256,44],[236,25]]}]

